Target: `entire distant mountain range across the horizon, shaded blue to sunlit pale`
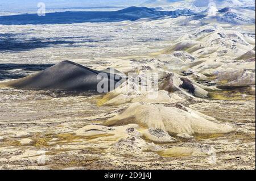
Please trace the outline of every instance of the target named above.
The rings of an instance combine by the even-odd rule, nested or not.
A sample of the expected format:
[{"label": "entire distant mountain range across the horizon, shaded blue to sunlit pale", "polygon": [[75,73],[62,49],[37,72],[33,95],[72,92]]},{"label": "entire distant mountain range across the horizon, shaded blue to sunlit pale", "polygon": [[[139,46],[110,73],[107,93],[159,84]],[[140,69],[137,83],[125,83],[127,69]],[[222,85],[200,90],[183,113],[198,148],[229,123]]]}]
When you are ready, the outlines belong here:
[{"label": "entire distant mountain range across the horizon, shaded blue to sunlit pale", "polygon": [[131,6],[118,11],[65,11],[52,12],[46,16],[37,14],[22,14],[0,16],[0,24],[71,24],[95,22],[122,22],[138,19],[156,20],[166,18],[179,18],[183,16],[180,24],[209,24],[211,22],[229,24],[255,24],[255,7],[224,7],[222,9],[211,6],[200,12],[190,9],[177,9],[164,11],[160,8]]}]

